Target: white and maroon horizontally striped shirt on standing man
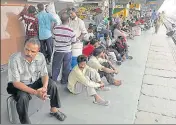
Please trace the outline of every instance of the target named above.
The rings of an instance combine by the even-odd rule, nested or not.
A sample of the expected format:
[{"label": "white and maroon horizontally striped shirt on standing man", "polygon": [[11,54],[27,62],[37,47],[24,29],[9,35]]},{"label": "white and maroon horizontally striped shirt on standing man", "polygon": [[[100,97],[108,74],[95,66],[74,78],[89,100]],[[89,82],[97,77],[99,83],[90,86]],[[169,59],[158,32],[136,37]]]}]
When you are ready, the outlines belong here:
[{"label": "white and maroon horizontally striped shirt on standing man", "polygon": [[56,52],[71,52],[72,43],[76,42],[76,34],[66,25],[54,27],[55,51]]}]

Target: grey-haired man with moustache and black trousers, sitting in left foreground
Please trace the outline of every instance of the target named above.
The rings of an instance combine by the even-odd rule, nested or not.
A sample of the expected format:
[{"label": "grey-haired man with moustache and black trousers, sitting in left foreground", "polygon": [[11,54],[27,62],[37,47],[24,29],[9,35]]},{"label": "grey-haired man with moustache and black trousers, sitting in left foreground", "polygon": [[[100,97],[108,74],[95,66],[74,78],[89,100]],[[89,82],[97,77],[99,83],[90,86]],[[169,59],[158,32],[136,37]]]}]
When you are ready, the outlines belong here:
[{"label": "grey-haired man with moustache and black trousers, sitting in left foreground", "polygon": [[[13,54],[8,63],[7,92],[15,96],[17,112],[22,124],[30,124],[28,106],[30,95],[42,100],[50,96],[50,115],[64,121],[66,115],[59,111],[61,107],[56,84],[49,79],[45,57],[39,52],[37,38],[26,41],[24,52]],[[48,94],[48,95],[47,95]]]}]

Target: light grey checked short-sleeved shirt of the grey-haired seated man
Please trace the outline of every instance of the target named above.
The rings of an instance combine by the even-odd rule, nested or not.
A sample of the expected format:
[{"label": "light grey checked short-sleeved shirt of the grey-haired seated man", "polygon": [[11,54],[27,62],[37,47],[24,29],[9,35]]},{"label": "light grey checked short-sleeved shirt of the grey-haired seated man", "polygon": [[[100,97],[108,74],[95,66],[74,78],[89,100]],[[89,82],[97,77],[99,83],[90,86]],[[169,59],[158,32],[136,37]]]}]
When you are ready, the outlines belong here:
[{"label": "light grey checked short-sleeved shirt of the grey-haired seated man", "polygon": [[48,75],[45,57],[38,53],[29,63],[21,52],[13,54],[8,62],[8,82],[32,84],[42,76]]}]

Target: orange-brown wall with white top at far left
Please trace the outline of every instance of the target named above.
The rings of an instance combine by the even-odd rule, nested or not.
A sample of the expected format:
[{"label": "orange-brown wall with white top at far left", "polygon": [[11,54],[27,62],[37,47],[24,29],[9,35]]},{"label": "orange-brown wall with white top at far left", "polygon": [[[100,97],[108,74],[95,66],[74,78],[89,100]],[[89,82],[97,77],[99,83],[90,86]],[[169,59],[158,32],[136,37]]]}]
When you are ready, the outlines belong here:
[{"label": "orange-brown wall with white top at far left", "polygon": [[9,56],[22,50],[24,25],[18,21],[22,6],[1,6],[1,65],[8,62]]}]

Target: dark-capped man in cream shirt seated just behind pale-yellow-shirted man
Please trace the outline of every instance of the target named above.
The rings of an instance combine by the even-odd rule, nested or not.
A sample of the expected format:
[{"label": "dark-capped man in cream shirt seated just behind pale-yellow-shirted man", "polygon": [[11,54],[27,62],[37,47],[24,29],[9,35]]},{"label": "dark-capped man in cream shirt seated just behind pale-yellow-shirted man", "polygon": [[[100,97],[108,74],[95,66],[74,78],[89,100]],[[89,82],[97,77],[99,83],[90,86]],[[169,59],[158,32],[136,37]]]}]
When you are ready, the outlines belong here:
[{"label": "dark-capped man in cream shirt seated just behind pale-yellow-shirted man", "polygon": [[90,57],[87,65],[92,67],[93,69],[96,69],[99,72],[100,77],[105,76],[110,84],[120,86],[121,80],[114,79],[114,73],[117,74],[118,71],[111,68],[111,62],[103,59],[103,55],[104,49],[102,47],[96,48],[93,52],[93,56]]}]

